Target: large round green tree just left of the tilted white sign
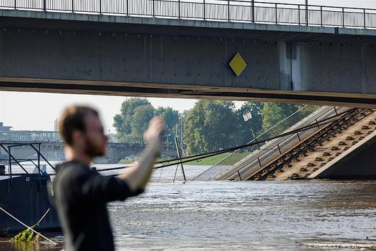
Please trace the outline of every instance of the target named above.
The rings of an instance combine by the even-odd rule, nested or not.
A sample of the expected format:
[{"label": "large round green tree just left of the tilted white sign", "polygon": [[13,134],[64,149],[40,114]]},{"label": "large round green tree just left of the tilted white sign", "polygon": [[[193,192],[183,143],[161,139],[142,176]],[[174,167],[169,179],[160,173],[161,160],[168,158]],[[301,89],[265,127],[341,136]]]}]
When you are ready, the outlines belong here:
[{"label": "large round green tree just left of the tilted white sign", "polygon": [[199,100],[185,116],[188,153],[203,153],[234,145],[235,105],[232,101]]}]

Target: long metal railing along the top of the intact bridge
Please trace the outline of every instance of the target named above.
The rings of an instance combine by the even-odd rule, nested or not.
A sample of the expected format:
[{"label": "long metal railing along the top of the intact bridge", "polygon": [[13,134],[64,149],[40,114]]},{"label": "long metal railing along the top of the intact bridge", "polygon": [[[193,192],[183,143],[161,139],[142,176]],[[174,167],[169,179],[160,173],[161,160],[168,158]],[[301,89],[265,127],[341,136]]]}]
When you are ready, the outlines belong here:
[{"label": "long metal railing along the top of the intact bridge", "polygon": [[376,9],[252,0],[1,0],[0,8],[376,28]]}]

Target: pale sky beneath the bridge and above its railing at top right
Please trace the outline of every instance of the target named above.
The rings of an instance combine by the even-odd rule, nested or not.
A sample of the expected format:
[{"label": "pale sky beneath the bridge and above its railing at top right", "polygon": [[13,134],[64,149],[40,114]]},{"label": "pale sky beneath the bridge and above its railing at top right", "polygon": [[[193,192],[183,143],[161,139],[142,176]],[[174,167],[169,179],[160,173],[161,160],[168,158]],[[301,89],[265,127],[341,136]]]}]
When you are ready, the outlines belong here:
[{"label": "pale sky beneath the bridge and above its railing at top right", "polygon": [[[257,1],[257,0],[256,0]],[[304,3],[305,0],[263,0],[268,2]],[[376,0],[308,0],[312,5],[376,8]],[[13,130],[54,130],[54,120],[64,107],[72,104],[91,105],[100,111],[106,131],[111,130],[113,116],[127,97],[89,96],[60,93],[22,93],[0,91],[0,121]],[[173,107],[179,112],[190,109],[196,100],[148,98],[155,107]],[[242,102],[236,102],[237,107]]]}]

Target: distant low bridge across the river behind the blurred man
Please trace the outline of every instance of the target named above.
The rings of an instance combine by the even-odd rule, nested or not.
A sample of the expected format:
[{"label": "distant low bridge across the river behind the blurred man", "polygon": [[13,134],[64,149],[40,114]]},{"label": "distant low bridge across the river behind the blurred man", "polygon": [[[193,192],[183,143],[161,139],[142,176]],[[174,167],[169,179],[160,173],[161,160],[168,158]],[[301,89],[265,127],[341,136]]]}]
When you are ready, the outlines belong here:
[{"label": "distant low bridge across the river behind the blurred man", "polygon": [[[32,142],[0,142],[0,144],[23,144]],[[40,143],[40,153],[47,158],[47,160],[64,160],[64,146],[61,142],[38,142]],[[11,154],[17,159],[36,158],[36,151],[29,145],[17,146],[11,148]],[[7,145],[4,144],[7,148]],[[35,145],[38,149],[38,146]],[[107,155],[101,158],[96,158],[95,163],[118,163],[121,159],[127,156],[137,156],[145,149],[144,144],[128,144],[128,143],[109,143],[107,147]],[[177,156],[175,146],[163,146],[162,154],[171,157]],[[1,162],[8,162],[8,153],[4,149],[0,149]]]}]

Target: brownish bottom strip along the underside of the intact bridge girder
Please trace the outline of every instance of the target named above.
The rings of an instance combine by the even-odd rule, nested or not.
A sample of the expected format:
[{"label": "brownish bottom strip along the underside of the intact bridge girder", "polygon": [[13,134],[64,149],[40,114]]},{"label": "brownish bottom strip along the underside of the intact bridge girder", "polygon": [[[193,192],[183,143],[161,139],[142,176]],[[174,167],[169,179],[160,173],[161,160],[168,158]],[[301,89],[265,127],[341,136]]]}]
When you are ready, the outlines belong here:
[{"label": "brownish bottom strip along the underside of the intact bridge girder", "polygon": [[1,77],[0,90],[104,96],[140,96],[153,98],[297,102],[307,104],[312,103],[316,105],[333,104],[348,107],[376,107],[375,96],[369,94],[276,91],[221,86],[181,86],[178,84],[91,82],[67,79],[24,79]]}]

